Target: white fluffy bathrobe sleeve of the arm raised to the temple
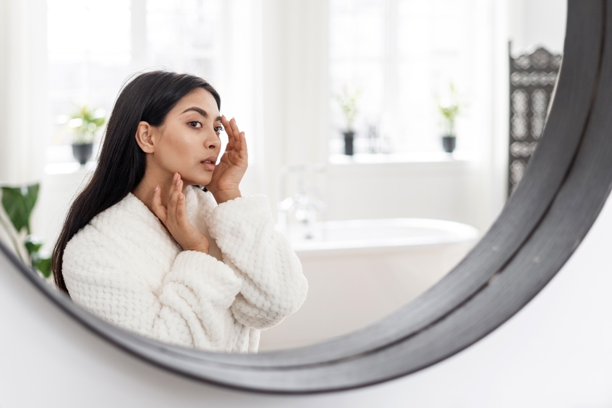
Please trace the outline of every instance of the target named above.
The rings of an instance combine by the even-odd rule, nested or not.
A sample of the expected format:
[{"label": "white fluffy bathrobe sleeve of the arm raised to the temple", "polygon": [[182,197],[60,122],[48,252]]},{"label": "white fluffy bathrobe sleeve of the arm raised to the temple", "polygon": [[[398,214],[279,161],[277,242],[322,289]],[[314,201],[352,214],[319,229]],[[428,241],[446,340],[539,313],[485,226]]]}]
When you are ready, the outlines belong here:
[{"label": "white fluffy bathrobe sleeve of the arm raised to the temple", "polygon": [[278,324],[304,302],[308,283],[302,265],[283,234],[274,228],[266,196],[219,204],[207,227],[223,262],[242,278],[231,306],[242,324],[259,330]]}]

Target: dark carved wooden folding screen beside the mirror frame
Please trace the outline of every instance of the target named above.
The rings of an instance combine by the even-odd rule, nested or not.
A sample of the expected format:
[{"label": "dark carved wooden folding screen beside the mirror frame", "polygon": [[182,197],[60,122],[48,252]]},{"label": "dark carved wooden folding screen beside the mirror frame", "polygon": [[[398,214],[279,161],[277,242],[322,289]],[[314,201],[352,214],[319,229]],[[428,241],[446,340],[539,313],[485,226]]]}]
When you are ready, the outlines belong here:
[{"label": "dark carved wooden folding screen beside the mirror frame", "polygon": [[516,58],[510,54],[508,195],[523,177],[542,136],[560,66],[561,54],[551,54],[545,48]]}]

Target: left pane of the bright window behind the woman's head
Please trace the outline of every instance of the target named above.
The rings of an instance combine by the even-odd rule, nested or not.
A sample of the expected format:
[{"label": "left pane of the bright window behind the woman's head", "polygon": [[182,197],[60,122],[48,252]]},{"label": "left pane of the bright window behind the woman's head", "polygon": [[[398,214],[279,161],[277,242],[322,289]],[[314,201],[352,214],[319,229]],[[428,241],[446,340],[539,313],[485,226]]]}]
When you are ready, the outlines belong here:
[{"label": "left pane of the bright window behind the woman's head", "polygon": [[68,115],[87,103],[110,111],[130,70],[130,2],[48,0],[48,100],[51,146],[69,144]]}]

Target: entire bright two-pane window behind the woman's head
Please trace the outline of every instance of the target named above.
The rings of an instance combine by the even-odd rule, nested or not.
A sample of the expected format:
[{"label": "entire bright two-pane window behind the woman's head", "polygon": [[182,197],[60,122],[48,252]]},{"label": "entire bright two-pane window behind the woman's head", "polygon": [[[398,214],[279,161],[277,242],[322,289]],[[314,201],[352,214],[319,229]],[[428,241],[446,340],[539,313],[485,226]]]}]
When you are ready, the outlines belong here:
[{"label": "entire bright two-pane window behind the woman's head", "polygon": [[48,0],[50,161],[70,161],[65,122],[76,106],[110,114],[133,72],[219,72],[221,0]]}]

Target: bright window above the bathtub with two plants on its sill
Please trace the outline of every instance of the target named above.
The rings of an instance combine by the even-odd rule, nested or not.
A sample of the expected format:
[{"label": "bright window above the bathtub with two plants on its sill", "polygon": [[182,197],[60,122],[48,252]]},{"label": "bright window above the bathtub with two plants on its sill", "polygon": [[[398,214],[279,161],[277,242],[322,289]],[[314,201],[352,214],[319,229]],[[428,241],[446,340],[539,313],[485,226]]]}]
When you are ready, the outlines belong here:
[{"label": "bright window above the bathtub with two plants on its sill", "polygon": [[[457,133],[468,146],[475,7],[475,0],[330,0],[330,90],[359,89],[356,154],[441,152],[436,97],[446,97],[451,81],[465,100]],[[339,154],[346,121],[335,97],[330,109],[330,153]]]}]

